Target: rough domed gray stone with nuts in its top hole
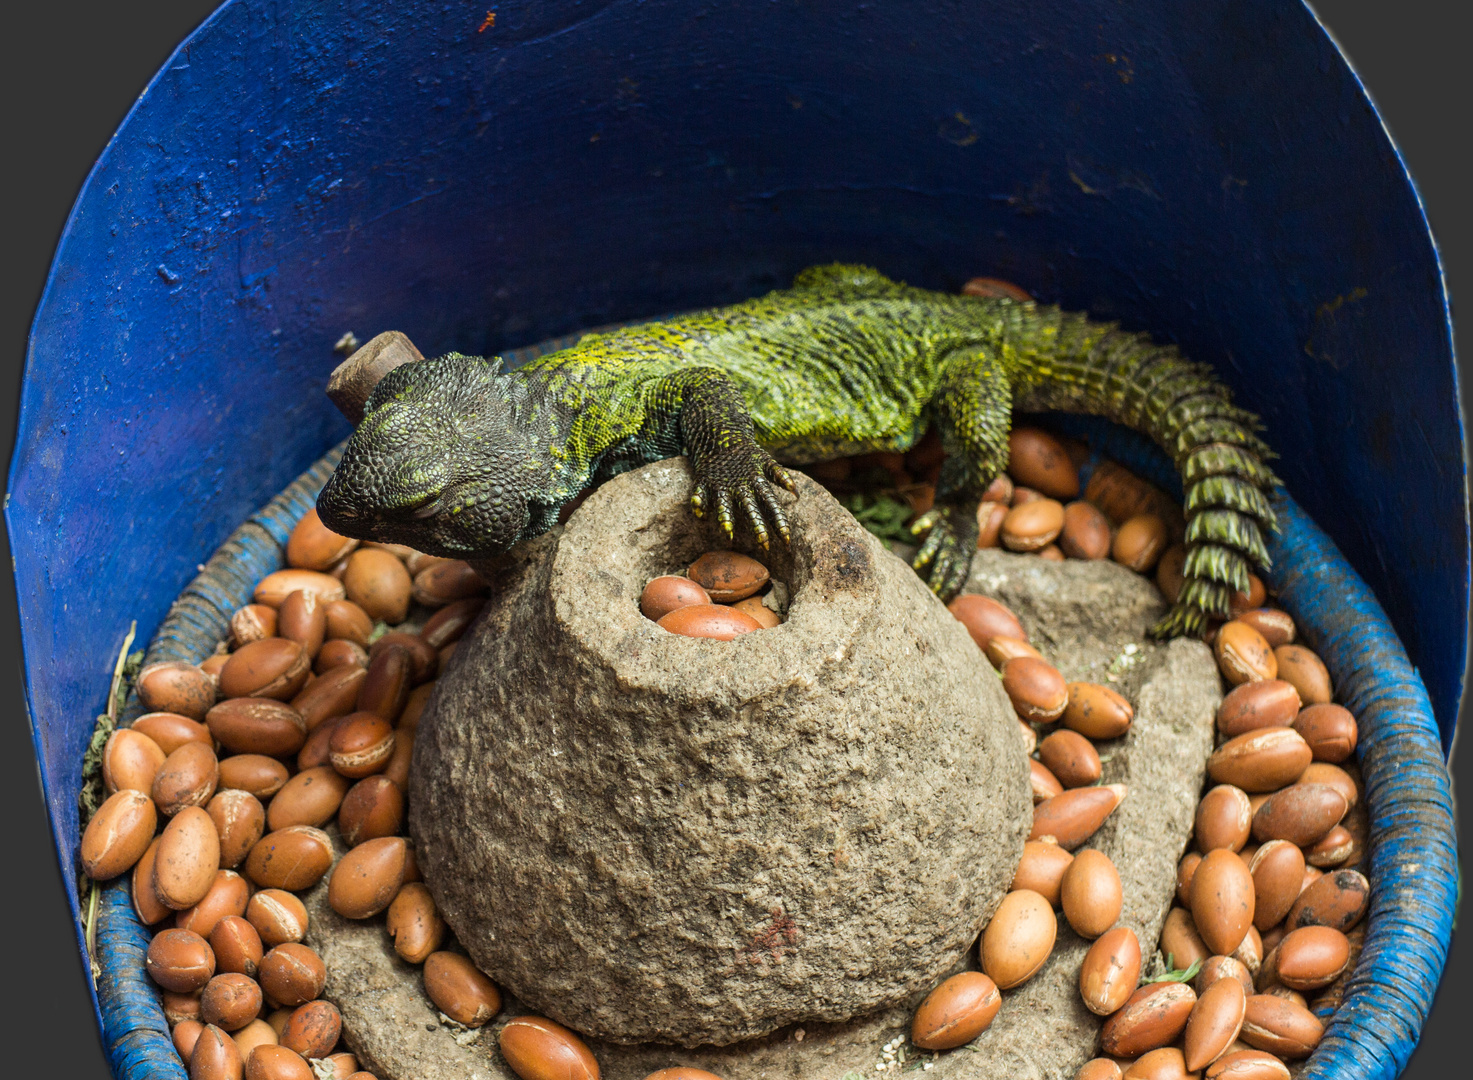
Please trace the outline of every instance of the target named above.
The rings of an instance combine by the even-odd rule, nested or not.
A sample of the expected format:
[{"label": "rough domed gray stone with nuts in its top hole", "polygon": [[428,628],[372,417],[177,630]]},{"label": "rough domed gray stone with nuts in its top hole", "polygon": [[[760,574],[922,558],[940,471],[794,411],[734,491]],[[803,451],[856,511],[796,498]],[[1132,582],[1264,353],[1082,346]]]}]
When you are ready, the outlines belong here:
[{"label": "rough domed gray stone with nuts in its top hole", "polygon": [[476,964],[613,1042],[844,1021],[952,968],[1027,834],[1016,722],[924,583],[806,477],[788,620],[672,635],[647,581],[713,547],[683,460],[508,569],[420,723],[411,831]]}]

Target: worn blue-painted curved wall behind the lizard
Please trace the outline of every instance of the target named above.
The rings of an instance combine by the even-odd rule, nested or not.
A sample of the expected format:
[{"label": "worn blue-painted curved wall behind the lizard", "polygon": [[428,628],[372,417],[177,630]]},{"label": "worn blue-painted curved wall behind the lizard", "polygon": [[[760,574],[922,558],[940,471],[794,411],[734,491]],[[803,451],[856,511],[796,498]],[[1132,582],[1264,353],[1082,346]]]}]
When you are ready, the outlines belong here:
[{"label": "worn blue-painted curved wall behind the lizard", "polygon": [[37,754],[130,619],[346,433],[348,329],[496,351],[804,264],[975,273],[1215,362],[1451,737],[1469,586],[1420,203],[1293,0],[233,0],[108,146],[31,339],[9,482]]}]

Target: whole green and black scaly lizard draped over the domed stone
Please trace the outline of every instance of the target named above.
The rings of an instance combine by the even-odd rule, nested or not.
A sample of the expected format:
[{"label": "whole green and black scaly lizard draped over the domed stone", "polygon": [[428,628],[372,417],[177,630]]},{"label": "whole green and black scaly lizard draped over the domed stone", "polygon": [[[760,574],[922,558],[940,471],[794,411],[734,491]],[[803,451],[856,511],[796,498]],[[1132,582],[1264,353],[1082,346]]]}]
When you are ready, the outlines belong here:
[{"label": "whole green and black scaly lizard draped over the domed stone", "polygon": [[779,464],[915,445],[949,457],[915,567],[950,598],[977,544],[977,502],[1008,466],[1013,408],[1136,427],[1186,489],[1186,585],[1153,634],[1199,634],[1267,566],[1277,482],[1256,418],[1211,368],[1143,334],[1053,306],[912,289],[868,267],[813,267],[792,289],[664,323],[588,334],[516,371],[451,354],[374,388],[318,498],[348,536],[491,558],[549,529],[604,480],[686,454],[691,508],[766,547],[788,523]]}]

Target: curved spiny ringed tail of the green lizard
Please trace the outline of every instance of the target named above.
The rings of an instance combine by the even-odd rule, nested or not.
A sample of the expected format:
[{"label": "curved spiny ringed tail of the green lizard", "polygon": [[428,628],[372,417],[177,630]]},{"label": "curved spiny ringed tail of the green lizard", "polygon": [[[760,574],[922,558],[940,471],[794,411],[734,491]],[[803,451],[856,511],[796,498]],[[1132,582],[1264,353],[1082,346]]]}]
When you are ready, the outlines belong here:
[{"label": "curved spiny ringed tail of the green lizard", "polygon": [[1268,494],[1279,477],[1258,417],[1231,402],[1206,364],[1174,346],[1058,308],[982,301],[1002,324],[1000,348],[1025,411],[1091,413],[1149,435],[1175,461],[1186,492],[1184,585],[1155,637],[1200,634],[1228,597],[1248,591],[1251,566],[1267,569],[1276,530]]}]

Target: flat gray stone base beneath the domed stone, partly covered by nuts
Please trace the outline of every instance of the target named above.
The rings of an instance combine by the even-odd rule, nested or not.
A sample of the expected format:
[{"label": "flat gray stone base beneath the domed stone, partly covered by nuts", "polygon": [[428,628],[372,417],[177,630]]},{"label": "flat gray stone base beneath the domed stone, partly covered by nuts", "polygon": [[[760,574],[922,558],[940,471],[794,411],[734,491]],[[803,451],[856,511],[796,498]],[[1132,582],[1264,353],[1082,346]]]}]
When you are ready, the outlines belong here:
[{"label": "flat gray stone base beneath the domed stone, partly covered by nuts", "polygon": [[[1109,682],[1136,704],[1130,734],[1100,747],[1109,759],[1105,782],[1124,782],[1130,794],[1090,846],[1119,869],[1122,922],[1136,928],[1149,952],[1171,902],[1211,748],[1220,684],[1208,650],[1190,641],[1149,642],[1145,629],[1164,606],[1145,579],[1111,563],[1059,564],[981,553],[968,591],[994,595],[1018,611],[1034,642],[1068,678]],[[474,1042],[460,1045],[424,997],[418,969],[395,958],[383,919],[339,918],[327,908],[326,884],[308,897],[308,940],[328,969],[326,996],[342,1009],[345,1039],[364,1068],[380,1080],[513,1080],[495,1049],[496,1037],[507,1020],[529,1011],[524,1003],[508,996],[504,1012]],[[928,1077],[1069,1080],[1093,1056],[1100,1024],[1078,1003],[1084,952],[1086,943],[1061,925],[1044,968],[1003,995],[997,1020],[980,1039],[937,1055]],[[974,949],[957,967],[975,967],[975,961]],[[704,1068],[723,1080],[868,1080],[878,1074],[881,1048],[909,1033],[912,1011],[924,996],[925,990],[916,992],[847,1024],[794,1025],[723,1048],[678,1051],[598,1040],[589,1046],[605,1080],[644,1080],[670,1065]],[[916,1055],[913,1048],[907,1053]]]}]

